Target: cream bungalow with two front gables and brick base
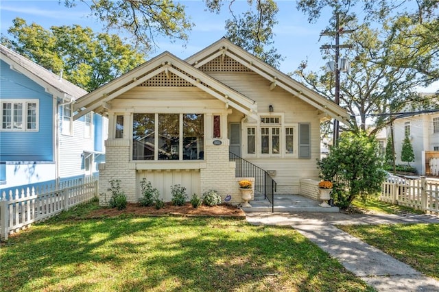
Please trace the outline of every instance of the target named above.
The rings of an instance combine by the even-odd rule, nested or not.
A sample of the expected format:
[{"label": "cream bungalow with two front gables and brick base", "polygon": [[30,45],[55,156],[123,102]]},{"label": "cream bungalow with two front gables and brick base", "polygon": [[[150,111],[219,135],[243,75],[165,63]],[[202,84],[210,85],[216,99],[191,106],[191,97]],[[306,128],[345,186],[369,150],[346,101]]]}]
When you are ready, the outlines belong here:
[{"label": "cream bungalow with two front gables and brick base", "polygon": [[[120,180],[130,202],[146,178],[165,201],[170,186],[181,184],[189,195],[215,189],[237,204],[236,169],[246,165],[270,173],[278,194],[297,194],[300,179],[318,178],[320,121],[349,119],[340,106],[225,38],[186,60],[161,53],[76,100],[73,111],[73,119],[91,111],[108,115],[99,189]],[[108,199],[102,193],[101,203]]]}]

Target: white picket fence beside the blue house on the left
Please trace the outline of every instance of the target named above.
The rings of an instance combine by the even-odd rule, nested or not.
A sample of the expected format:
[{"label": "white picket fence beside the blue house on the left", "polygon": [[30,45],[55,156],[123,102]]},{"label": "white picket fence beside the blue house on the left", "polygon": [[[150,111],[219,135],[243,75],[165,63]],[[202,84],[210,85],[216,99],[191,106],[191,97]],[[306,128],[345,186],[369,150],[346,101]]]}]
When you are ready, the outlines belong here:
[{"label": "white picket fence beside the blue house on the left", "polygon": [[8,239],[13,232],[29,227],[57,215],[62,210],[91,201],[98,195],[97,178],[85,178],[46,185],[37,188],[21,188],[1,194],[0,236]]}]

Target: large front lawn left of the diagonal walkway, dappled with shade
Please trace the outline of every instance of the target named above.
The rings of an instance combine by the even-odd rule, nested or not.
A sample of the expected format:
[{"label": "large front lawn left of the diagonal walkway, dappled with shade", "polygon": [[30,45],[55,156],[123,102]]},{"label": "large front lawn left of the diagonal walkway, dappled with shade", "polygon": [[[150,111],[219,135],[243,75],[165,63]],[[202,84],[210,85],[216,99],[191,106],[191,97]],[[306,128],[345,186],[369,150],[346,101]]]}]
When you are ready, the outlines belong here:
[{"label": "large front lawn left of the diagonal walkway, dappled with shade", "polygon": [[2,291],[373,291],[292,228],[180,217],[78,219],[2,243]]}]

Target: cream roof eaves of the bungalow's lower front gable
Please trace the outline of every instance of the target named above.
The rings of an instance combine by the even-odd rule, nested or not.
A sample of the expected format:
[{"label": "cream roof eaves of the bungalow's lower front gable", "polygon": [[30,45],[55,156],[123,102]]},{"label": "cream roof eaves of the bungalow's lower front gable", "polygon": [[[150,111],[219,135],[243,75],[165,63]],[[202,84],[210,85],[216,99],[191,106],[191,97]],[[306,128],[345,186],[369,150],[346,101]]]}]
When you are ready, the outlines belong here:
[{"label": "cream roof eaves of the bungalow's lower front gable", "polygon": [[92,110],[102,112],[105,108],[110,107],[108,102],[112,99],[163,74],[167,79],[171,79],[171,75],[176,75],[181,80],[185,80],[185,82],[223,101],[226,106],[231,106],[250,117],[257,117],[255,101],[222,84],[171,53],[164,52],[78,99],[73,105],[73,110],[78,111],[73,119],[79,119]]}]

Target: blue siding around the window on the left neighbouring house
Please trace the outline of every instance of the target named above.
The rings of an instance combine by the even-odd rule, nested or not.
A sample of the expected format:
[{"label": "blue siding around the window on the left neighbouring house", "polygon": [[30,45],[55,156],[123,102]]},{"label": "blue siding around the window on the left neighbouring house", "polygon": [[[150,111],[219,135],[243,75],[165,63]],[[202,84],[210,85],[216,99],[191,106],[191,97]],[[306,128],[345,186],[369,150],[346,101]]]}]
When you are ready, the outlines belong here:
[{"label": "blue siding around the window on the left neighbouring house", "polygon": [[38,132],[0,132],[0,161],[53,161],[53,99],[43,87],[0,61],[2,99],[39,99]]}]

